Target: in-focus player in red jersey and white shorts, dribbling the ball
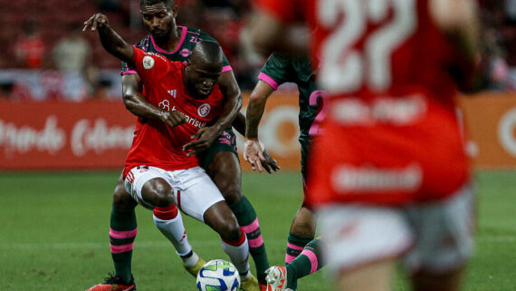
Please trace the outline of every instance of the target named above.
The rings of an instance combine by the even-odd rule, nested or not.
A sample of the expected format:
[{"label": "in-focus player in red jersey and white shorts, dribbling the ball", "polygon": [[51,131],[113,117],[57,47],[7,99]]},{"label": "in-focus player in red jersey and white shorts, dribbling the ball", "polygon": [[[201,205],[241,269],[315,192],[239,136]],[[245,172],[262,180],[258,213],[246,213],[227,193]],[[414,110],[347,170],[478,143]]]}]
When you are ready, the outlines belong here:
[{"label": "in-focus player in red jersey and white shorts, dribbling the ball", "polygon": [[[171,62],[159,53],[145,53],[127,44],[110,28],[105,15],[93,15],[86,29],[97,30],[106,51],[136,69],[148,102],[171,112],[167,121],[138,121],[123,171],[126,190],[149,209],[177,204],[188,216],[215,229],[242,280],[254,282],[242,289],[258,291],[249,271],[244,231],[215,183],[198,166],[194,152],[185,150],[191,136],[222,111],[223,93],[216,84],[222,71],[222,49],[215,42],[203,41],[196,44],[187,64]],[[127,288],[133,289],[134,283]]]}]

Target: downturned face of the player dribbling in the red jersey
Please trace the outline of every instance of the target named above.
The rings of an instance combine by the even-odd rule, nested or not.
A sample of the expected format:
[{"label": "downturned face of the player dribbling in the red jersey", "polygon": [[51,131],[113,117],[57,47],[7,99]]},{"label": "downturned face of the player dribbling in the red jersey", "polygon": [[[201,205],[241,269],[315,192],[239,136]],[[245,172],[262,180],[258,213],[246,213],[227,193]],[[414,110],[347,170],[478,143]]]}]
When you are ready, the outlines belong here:
[{"label": "downturned face of the player dribbling in the red jersey", "polygon": [[189,63],[185,72],[186,88],[194,98],[205,99],[214,90],[221,72],[220,65]]}]

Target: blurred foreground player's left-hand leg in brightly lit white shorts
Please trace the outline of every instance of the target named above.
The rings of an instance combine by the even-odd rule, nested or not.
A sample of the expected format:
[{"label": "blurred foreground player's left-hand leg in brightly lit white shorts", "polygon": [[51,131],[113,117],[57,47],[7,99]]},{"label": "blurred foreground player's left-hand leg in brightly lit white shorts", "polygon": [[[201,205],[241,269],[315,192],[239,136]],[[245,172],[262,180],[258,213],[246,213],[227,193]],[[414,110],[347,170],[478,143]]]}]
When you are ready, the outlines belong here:
[{"label": "blurred foreground player's left-hand leg in brightly lit white shorts", "polygon": [[323,257],[338,290],[388,291],[412,229],[397,208],[329,205],[318,209]]}]

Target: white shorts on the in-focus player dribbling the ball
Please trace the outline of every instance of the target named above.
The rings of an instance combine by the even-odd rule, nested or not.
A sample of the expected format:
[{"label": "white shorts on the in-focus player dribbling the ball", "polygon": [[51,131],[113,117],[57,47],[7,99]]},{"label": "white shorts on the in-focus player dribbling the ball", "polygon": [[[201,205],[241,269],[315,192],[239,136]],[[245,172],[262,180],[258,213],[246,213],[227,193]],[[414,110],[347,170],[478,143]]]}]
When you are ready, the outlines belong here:
[{"label": "white shorts on the in-focus player dribbling the ball", "polygon": [[133,199],[148,209],[153,209],[154,206],[142,199],[141,189],[148,180],[155,178],[165,179],[174,189],[174,199],[181,211],[203,222],[205,210],[224,200],[215,183],[201,167],[186,170],[136,167],[126,175],[125,188]]}]

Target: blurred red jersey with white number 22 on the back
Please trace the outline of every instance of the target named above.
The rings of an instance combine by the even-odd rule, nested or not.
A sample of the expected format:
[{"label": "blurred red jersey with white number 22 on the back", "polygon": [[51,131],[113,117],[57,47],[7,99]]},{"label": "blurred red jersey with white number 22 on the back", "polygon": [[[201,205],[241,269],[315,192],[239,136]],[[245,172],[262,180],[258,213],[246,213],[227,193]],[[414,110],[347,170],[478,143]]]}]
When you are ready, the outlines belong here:
[{"label": "blurred red jersey with white number 22 on the back", "polygon": [[311,155],[309,201],[403,204],[442,199],[469,178],[456,116],[461,64],[429,0],[258,0],[283,22],[308,19],[330,93]]}]

